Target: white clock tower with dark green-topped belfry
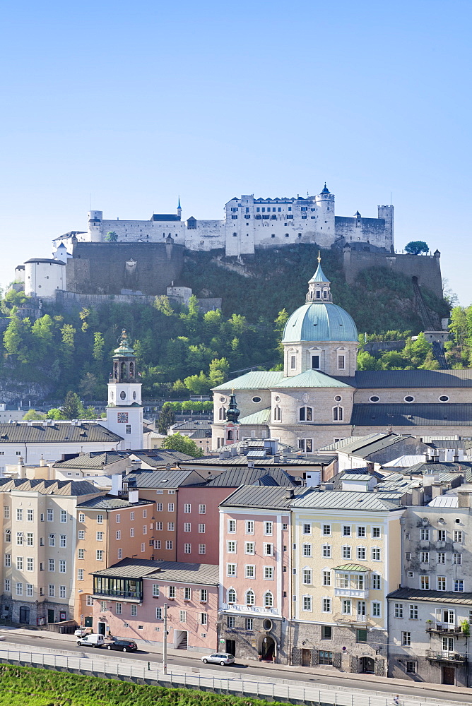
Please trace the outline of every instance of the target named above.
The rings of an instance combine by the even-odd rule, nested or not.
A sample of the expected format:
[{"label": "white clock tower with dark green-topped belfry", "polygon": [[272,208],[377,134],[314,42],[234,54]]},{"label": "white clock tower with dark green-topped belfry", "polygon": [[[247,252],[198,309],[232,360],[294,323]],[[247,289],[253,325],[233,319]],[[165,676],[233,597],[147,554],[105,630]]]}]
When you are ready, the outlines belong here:
[{"label": "white clock tower with dark green-topped belfry", "polygon": [[136,356],[123,330],[113,354],[113,370],[108,382],[107,429],[122,436],[122,449],[143,448],[143,407],[138,382]]}]

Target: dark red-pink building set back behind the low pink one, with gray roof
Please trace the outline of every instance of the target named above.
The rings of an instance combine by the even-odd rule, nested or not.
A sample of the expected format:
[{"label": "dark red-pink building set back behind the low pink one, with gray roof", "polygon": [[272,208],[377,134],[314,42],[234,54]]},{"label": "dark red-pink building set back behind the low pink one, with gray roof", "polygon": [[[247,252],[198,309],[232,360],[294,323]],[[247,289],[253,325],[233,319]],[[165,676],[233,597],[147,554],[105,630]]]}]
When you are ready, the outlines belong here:
[{"label": "dark red-pink building set back behind the low pink one, with gray roof", "polygon": [[240,486],[293,487],[280,468],[228,468],[204,484],[181,486],[177,498],[177,561],[220,561],[219,505]]}]

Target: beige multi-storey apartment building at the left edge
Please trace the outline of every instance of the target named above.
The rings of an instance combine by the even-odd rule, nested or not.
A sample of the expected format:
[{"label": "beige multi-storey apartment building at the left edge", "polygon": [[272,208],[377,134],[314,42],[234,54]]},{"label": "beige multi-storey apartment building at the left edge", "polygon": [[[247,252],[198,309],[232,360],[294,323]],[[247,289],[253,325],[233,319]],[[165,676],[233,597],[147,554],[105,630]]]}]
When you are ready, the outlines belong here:
[{"label": "beige multi-storey apartment building at the left edge", "polygon": [[1,617],[25,625],[73,618],[78,505],[99,491],[88,481],[0,479],[0,494]]}]

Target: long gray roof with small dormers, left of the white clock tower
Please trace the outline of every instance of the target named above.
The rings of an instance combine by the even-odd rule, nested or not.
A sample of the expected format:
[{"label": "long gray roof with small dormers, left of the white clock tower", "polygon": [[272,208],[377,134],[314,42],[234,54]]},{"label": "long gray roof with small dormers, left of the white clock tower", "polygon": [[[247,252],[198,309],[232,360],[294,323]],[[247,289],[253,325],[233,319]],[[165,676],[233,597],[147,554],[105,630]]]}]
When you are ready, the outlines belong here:
[{"label": "long gray roof with small dormers, left of the white clock tower", "polygon": [[90,421],[79,421],[77,426],[70,421],[55,421],[52,426],[41,421],[33,421],[31,426],[28,426],[27,421],[0,424],[0,443],[64,443],[64,441],[117,443],[123,441],[123,437],[108,431],[101,424]]}]

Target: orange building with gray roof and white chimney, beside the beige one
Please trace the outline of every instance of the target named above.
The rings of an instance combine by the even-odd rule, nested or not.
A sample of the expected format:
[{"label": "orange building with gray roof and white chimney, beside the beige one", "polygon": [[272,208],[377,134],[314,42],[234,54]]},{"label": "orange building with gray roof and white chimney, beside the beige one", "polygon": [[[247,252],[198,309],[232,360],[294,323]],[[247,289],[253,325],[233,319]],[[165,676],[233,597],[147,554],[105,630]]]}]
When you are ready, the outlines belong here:
[{"label": "orange building with gray roof and white chimney, beside the beige one", "polygon": [[75,602],[73,617],[79,625],[93,625],[93,572],[128,557],[151,559],[155,503],[129,497],[98,496],[79,503],[76,516]]}]

